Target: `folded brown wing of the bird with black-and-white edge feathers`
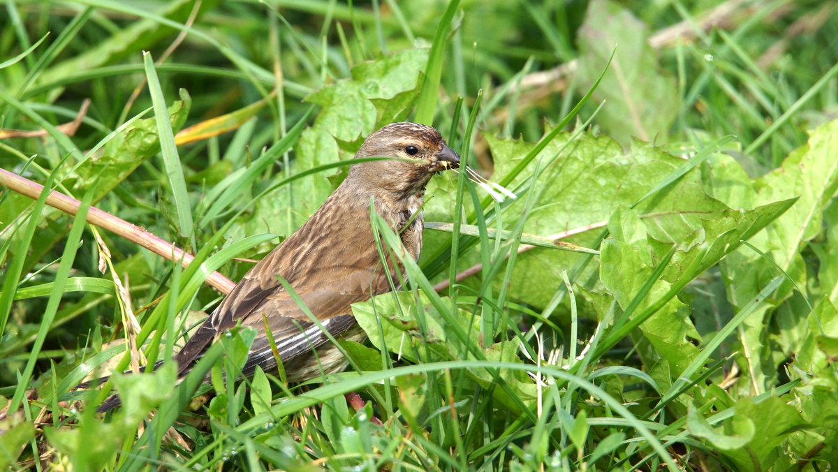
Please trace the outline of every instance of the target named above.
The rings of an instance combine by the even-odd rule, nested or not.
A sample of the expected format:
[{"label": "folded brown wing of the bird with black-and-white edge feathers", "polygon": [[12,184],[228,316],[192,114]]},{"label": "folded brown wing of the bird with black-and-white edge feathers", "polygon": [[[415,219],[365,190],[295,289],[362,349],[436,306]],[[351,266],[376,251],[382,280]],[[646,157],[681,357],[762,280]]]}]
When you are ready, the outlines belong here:
[{"label": "folded brown wing of the bird with black-and-white edge feathers", "polygon": [[[323,344],[328,338],[282,287],[277,275],[290,283],[332,335],[354,324],[351,303],[390,290],[369,221],[334,218],[334,214],[329,218],[329,212],[323,211],[327,209],[328,202],[247,272],[177,355],[180,371],[187,371],[225,329],[240,321],[264,331],[267,320],[283,361]],[[271,345],[265,335],[257,335],[247,368],[270,364],[268,357],[273,357]]]}]

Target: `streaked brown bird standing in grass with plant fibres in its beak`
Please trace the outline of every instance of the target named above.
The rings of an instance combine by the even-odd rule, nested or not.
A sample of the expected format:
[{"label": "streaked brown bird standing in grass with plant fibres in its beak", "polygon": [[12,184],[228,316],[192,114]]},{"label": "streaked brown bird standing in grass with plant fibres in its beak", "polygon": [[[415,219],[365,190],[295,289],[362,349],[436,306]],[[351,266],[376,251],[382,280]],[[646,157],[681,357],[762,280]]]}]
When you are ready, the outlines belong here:
[{"label": "streaked brown bird standing in grass with plant fibres in its beak", "polygon": [[[375,212],[401,236],[406,252],[416,260],[422,249],[425,187],[433,174],[456,169],[460,162],[436,129],[409,122],[382,127],[355,154],[355,158],[376,156],[399,159],[353,164],[323,206],[246,273],[174,356],[180,376],[226,329],[240,322],[258,333],[242,373],[251,376],[256,366],[265,371],[276,368],[264,319],[288,381],[311,379],[321,368],[327,373],[344,368],[343,355],[327,342],[277,275],[287,280],[331,335],[363,339],[349,305],[391,289],[370,224],[370,198]],[[393,261],[388,264],[396,267]],[[109,397],[99,411],[119,404],[119,397]]]}]

